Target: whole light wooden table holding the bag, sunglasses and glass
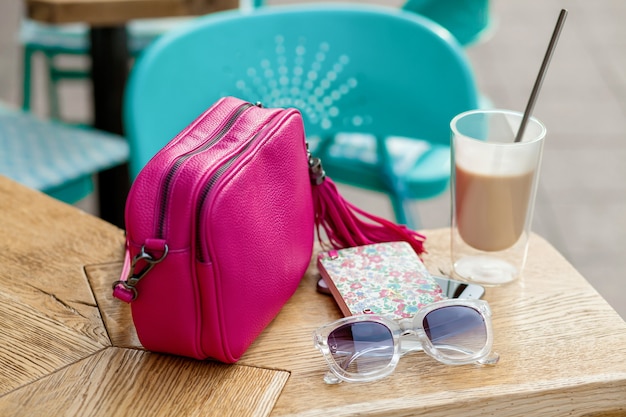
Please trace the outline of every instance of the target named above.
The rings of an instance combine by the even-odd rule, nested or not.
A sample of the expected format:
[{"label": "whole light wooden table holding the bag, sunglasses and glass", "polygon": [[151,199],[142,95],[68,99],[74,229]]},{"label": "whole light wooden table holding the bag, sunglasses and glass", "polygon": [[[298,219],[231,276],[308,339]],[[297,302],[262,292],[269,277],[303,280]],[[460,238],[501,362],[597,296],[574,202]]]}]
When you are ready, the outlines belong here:
[{"label": "whole light wooden table holding the bag, sunglasses and glass", "polygon": [[[368,384],[325,385],[311,332],[339,310],[315,268],[241,361],[146,352],[110,295],[123,232],[0,177],[0,415],[624,416],[626,323],[549,243],[525,277],[485,294],[495,367],[421,353]],[[448,231],[425,257],[446,267]]]}]

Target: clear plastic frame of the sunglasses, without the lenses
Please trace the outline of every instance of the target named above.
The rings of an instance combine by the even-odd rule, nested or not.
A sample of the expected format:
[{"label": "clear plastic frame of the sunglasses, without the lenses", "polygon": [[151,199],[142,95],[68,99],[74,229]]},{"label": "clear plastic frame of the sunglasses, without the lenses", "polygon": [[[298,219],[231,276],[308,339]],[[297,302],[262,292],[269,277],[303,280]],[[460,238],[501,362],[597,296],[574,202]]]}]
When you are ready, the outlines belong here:
[{"label": "clear plastic frame of the sunglasses, without the lenses", "polygon": [[[477,311],[483,319],[485,325],[486,340],[484,346],[478,351],[463,351],[459,347],[447,346],[449,350],[454,350],[455,354],[450,355],[446,353],[445,349],[437,348],[427,336],[424,329],[424,318],[431,312],[449,306],[462,306],[471,308]],[[391,331],[391,337],[393,340],[393,354],[388,364],[380,369],[374,369],[367,372],[351,372],[346,368],[349,367],[353,360],[358,359],[361,355],[354,355],[347,361],[344,361],[345,365],[342,366],[337,363],[333,357],[331,346],[329,345],[328,338],[330,334],[344,326],[346,324],[353,324],[359,322],[374,322],[380,323],[387,327]],[[498,362],[500,356],[496,352],[492,352],[493,345],[493,330],[491,326],[491,309],[489,304],[484,300],[475,299],[453,299],[438,301],[421,308],[417,314],[408,319],[402,319],[400,321],[390,320],[386,317],[362,314],[356,316],[346,317],[337,320],[333,323],[324,325],[313,332],[313,344],[322,353],[330,371],[324,376],[324,382],[327,384],[338,384],[341,381],[346,382],[370,382],[377,379],[384,378],[390,375],[400,357],[409,352],[423,350],[427,355],[438,360],[446,365],[465,365],[465,364],[477,364],[477,365],[495,365]],[[441,347],[441,346],[440,346]],[[388,350],[381,347],[381,350]],[[363,352],[359,352],[363,354]],[[371,349],[368,354],[372,354]],[[389,353],[381,353],[381,355],[389,355]]]}]

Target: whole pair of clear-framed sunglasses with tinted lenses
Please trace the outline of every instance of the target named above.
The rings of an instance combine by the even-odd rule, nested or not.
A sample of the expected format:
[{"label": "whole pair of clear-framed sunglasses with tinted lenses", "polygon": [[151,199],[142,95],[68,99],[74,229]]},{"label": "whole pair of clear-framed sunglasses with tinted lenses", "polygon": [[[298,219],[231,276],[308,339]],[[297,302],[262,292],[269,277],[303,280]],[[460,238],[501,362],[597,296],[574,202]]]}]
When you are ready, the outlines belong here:
[{"label": "whole pair of clear-framed sunglasses with tinted lenses", "polygon": [[401,356],[418,350],[446,365],[495,365],[499,359],[491,351],[491,309],[484,300],[438,301],[400,321],[346,317],[317,329],[313,343],[330,367],[327,384],[384,378]]}]

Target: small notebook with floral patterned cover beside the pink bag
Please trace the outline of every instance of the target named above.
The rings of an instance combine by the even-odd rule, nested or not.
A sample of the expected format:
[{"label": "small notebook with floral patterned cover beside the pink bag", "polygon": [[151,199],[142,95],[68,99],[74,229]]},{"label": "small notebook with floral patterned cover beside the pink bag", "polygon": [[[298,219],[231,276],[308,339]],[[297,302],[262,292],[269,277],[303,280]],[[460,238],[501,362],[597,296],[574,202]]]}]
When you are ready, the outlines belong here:
[{"label": "small notebook with floral patterned cover beside the pink bag", "polygon": [[422,306],[446,298],[406,242],[323,252],[318,268],[344,316],[407,318]]}]

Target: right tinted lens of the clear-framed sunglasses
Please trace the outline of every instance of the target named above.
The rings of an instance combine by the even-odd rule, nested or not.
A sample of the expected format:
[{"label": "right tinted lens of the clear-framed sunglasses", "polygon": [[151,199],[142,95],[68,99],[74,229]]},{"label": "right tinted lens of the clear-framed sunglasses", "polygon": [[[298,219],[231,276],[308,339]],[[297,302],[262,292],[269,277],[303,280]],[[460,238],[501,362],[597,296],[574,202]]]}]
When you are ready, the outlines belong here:
[{"label": "right tinted lens of the clear-framed sunglasses", "polygon": [[462,359],[480,351],[487,343],[487,328],[482,315],[465,306],[433,310],[424,317],[426,335],[442,354]]}]

